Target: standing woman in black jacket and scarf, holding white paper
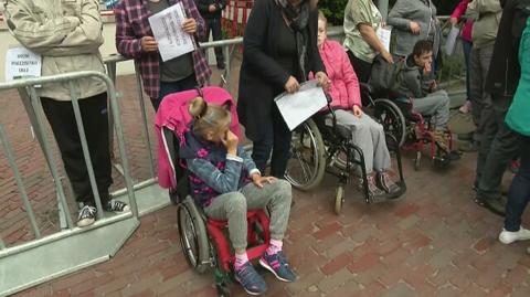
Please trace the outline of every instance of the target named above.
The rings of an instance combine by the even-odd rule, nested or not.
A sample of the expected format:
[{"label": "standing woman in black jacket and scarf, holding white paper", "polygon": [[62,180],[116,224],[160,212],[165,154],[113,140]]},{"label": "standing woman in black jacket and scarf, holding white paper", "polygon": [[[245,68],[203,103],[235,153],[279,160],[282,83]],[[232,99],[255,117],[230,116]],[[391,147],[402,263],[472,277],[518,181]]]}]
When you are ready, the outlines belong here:
[{"label": "standing woman in black jacket and scarf, holding white paper", "polygon": [[274,98],[295,93],[314,72],[329,82],[317,47],[318,0],[257,0],[243,42],[237,115],[253,141],[252,158],[264,172],[271,151],[271,176],[284,178],[290,130]]}]

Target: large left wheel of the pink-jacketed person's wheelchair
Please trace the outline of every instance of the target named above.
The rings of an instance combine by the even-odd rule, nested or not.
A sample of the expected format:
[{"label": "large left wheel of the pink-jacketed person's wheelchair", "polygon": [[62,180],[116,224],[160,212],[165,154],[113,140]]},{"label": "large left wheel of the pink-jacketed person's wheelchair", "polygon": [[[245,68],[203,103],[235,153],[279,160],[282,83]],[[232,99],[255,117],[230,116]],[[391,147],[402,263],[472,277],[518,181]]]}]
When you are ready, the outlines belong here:
[{"label": "large left wheel of the pink-jacketed person's wheelchair", "polygon": [[285,172],[287,181],[303,191],[317,187],[326,169],[326,151],[322,136],[312,119],[293,131],[290,155]]}]

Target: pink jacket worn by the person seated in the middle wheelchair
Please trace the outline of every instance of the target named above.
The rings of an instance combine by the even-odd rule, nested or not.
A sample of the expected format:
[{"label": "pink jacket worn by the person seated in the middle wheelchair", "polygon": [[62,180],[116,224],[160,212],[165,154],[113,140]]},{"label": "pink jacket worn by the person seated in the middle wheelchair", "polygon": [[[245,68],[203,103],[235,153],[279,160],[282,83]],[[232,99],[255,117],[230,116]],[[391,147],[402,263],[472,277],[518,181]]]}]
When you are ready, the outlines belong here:
[{"label": "pink jacket worn by the person seated in the middle wheelchair", "polygon": [[331,107],[351,109],[353,105],[362,106],[359,79],[342,45],[336,41],[326,40],[319,51],[331,81],[328,92],[333,99]]}]

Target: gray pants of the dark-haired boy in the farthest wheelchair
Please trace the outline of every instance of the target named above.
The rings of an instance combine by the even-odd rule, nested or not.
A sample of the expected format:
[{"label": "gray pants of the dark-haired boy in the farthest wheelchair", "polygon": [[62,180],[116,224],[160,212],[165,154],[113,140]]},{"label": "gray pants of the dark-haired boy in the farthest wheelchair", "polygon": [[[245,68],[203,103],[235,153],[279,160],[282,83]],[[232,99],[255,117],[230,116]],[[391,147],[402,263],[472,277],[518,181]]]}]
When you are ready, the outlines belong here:
[{"label": "gray pants of the dark-haired boy in the farthest wheelchair", "polygon": [[449,121],[449,95],[439,89],[426,97],[414,98],[412,108],[425,116],[433,116],[436,129],[446,129]]}]

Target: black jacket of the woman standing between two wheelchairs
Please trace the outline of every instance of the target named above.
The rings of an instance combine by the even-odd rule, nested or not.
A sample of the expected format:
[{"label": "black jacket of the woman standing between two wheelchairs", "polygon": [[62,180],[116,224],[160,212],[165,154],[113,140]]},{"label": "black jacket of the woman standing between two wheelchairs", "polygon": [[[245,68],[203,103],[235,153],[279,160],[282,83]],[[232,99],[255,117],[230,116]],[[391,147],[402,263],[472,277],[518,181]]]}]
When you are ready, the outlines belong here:
[{"label": "black jacket of the woman standing between two wheelchairs", "polygon": [[[237,116],[245,126],[246,137],[258,140],[263,127],[272,124],[274,97],[284,92],[290,75],[278,62],[279,30],[284,18],[275,0],[254,2],[243,41],[243,63],[240,72]],[[325,71],[317,47],[318,11],[310,12],[305,35],[307,57],[305,68]]]}]

